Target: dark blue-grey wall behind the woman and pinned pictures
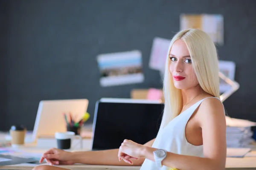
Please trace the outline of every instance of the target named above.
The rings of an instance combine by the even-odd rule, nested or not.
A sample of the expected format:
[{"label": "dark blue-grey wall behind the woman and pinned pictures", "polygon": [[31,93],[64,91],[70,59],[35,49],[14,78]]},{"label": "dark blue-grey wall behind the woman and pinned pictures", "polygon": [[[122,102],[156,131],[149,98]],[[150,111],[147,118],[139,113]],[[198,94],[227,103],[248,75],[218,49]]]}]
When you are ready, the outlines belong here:
[{"label": "dark blue-grey wall behind the woman and pinned pictures", "polygon": [[[1,69],[9,66],[7,81],[1,72],[8,85],[8,98],[1,96],[7,99],[1,105],[8,103],[6,125],[1,128],[24,124],[32,130],[40,100],[87,98],[93,116],[101,97],[128,98],[133,88],[161,88],[159,72],[148,68],[152,40],[155,36],[171,39],[179,31],[180,13],[224,16],[225,44],[218,52],[220,59],[236,62],[240,83],[224,105],[230,116],[256,121],[256,1],[194,2],[9,0],[8,63],[1,62]],[[95,57],[133,49],[143,53],[145,82],[102,88]]]}]

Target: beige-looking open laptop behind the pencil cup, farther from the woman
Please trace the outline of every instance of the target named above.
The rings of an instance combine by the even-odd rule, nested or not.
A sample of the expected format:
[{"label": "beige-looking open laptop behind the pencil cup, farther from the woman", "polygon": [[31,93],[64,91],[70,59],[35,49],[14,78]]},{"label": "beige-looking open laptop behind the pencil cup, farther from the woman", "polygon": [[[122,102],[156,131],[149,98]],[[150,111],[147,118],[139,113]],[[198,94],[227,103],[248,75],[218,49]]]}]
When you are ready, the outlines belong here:
[{"label": "beige-looking open laptop behind the pencil cup, farther from the woman", "polygon": [[42,100],[39,102],[32,141],[38,136],[54,136],[55,132],[67,131],[63,113],[71,113],[76,121],[87,112],[88,99]]}]

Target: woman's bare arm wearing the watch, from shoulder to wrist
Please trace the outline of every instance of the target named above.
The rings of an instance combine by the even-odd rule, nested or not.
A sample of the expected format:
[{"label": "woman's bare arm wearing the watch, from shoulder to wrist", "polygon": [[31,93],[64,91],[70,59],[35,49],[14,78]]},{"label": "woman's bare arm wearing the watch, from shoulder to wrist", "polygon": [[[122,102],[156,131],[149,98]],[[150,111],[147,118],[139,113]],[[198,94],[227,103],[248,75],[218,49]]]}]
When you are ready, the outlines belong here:
[{"label": "woman's bare arm wearing the watch, from shoulder to wrist", "polygon": [[[204,143],[204,158],[167,152],[162,164],[180,170],[224,170],[226,163],[226,121],[224,108],[214,98],[205,99],[200,108],[200,123]],[[153,151],[157,148],[144,147],[143,157],[154,161]]]}]

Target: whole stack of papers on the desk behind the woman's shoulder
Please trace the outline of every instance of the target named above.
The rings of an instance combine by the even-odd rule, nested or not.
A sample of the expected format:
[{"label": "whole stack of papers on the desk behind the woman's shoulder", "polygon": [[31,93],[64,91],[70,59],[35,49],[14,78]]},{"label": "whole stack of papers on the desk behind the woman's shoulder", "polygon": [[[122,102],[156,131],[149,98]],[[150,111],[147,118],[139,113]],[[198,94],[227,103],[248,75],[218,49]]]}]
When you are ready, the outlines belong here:
[{"label": "whole stack of papers on the desk behind the woman's shoulder", "polygon": [[226,123],[227,147],[252,147],[254,139],[251,127],[256,126],[256,122],[226,116]]}]

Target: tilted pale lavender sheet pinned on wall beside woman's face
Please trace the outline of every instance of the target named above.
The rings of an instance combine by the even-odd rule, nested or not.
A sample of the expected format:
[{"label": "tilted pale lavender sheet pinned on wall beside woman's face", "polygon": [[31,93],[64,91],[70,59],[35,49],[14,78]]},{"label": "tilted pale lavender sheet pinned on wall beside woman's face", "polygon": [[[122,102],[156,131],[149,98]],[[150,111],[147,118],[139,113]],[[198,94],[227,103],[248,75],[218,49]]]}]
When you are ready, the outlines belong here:
[{"label": "tilted pale lavender sheet pinned on wall beside woman's face", "polygon": [[154,37],[151,54],[149,59],[149,68],[163,72],[166,63],[166,57],[171,40]]}]

